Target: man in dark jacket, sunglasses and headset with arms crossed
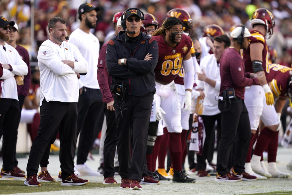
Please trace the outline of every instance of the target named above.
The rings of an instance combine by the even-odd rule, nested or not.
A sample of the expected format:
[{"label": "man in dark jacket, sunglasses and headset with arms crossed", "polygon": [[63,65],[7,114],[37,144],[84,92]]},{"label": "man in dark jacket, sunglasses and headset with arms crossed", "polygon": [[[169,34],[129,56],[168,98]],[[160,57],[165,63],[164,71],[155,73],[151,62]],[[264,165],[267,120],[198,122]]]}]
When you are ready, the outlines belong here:
[{"label": "man in dark jacket, sunglasses and headset with arms crossed", "polygon": [[108,42],[106,67],[113,76],[111,91],[114,93],[121,187],[141,190],[148,126],[155,94],[153,70],[158,61],[158,44],[140,32],[144,20],[144,13],[140,9],[127,9],[121,19],[125,31],[119,32]]}]

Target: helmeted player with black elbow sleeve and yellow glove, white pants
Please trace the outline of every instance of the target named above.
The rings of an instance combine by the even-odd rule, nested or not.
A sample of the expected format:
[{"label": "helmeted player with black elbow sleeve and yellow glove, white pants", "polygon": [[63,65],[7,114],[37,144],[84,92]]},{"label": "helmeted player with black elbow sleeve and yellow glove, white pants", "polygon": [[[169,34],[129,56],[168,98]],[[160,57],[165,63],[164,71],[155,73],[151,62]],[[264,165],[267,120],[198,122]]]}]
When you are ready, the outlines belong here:
[{"label": "helmeted player with black elbow sleeve and yellow glove, white pants", "polygon": [[[276,168],[280,122],[275,107],[273,106],[273,93],[266,79],[270,73],[266,38],[270,38],[273,34],[273,27],[275,26],[274,16],[267,9],[256,9],[252,15],[251,24],[252,30],[250,30],[250,33],[256,40],[250,41],[249,47],[244,51],[243,60],[245,63],[245,71],[263,74],[264,79],[259,83],[260,85],[252,85],[245,91],[245,104],[249,112],[252,132],[245,170],[251,175],[255,175],[255,172],[263,176],[255,175],[258,179],[266,179],[265,177],[271,176],[282,177],[281,172]],[[256,138],[255,134],[259,126],[259,119],[262,120],[265,127],[257,139],[252,159],[250,159],[252,142]],[[269,158],[270,160],[266,169],[263,161],[261,161],[261,156],[262,152],[269,146],[273,147],[273,152],[269,154],[271,158]]]}]

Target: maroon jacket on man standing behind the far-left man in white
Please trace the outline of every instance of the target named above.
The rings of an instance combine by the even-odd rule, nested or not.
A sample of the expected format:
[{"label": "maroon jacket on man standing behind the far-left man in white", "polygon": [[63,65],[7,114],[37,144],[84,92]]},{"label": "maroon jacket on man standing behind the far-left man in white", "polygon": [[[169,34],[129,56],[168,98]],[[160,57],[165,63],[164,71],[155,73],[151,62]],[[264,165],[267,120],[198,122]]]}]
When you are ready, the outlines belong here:
[{"label": "maroon jacket on man standing behind the far-left man in white", "polygon": [[18,95],[27,96],[28,90],[30,90],[30,77],[31,77],[30,56],[28,55],[28,51],[20,45],[16,45],[15,49],[18,51],[20,57],[26,63],[27,68],[28,68],[27,75],[24,76],[24,79],[23,79],[23,85],[17,85],[17,92],[18,92]]}]

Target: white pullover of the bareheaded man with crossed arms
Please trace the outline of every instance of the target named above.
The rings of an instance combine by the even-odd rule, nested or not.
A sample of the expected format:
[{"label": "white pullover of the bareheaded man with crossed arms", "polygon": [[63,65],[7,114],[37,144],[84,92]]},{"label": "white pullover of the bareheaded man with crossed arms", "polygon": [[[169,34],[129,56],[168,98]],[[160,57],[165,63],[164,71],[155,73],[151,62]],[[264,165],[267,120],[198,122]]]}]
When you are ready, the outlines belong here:
[{"label": "white pullover of the bareheaded man with crossed arms", "polygon": [[[78,48],[66,41],[61,45],[44,41],[37,54],[40,69],[40,106],[47,101],[77,102],[79,95],[77,73],[86,73],[88,63]],[[61,60],[74,62],[74,69]]]}]

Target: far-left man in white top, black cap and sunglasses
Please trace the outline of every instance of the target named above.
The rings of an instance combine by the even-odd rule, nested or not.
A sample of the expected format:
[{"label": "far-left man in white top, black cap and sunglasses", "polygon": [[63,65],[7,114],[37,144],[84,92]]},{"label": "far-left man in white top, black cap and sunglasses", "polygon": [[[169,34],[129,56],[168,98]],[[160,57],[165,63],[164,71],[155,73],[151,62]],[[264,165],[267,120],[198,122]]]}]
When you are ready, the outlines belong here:
[{"label": "far-left man in white top, black cap and sunglasses", "polygon": [[3,166],[0,177],[25,178],[25,175],[13,170],[13,154],[16,149],[20,117],[15,76],[26,75],[28,68],[16,49],[6,43],[9,41],[9,32],[13,25],[13,21],[8,21],[5,17],[0,16],[0,63],[3,65],[3,75],[0,77],[0,128],[3,130]]}]

